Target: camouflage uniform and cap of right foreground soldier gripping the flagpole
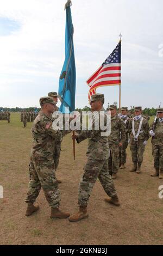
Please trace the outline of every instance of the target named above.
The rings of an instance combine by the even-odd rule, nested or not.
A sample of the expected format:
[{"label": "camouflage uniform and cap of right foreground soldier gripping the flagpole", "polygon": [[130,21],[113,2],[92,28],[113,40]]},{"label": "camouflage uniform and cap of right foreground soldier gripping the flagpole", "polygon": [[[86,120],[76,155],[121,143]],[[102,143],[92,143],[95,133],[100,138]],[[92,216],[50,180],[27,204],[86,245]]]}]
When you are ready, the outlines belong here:
[{"label": "camouflage uniform and cap of right foreground soldier gripping the flagpole", "polygon": [[[92,100],[104,98],[103,94],[92,95]],[[97,99],[96,99],[97,98]],[[103,109],[101,109],[102,111]],[[104,112],[103,112],[104,113]],[[93,121],[93,124],[95,121]],[[79,131],[78,131],[79,132]],[[95,130],[80,131],[77,136],[77,143],[89,138],[87,147],[87,162],[84,167],[84,174],[79,184],[78,204],[79,206],[86,206],[97,178],[101,182],[104,191],[109,197],[116,196],[116,190],[111,176],[108,173],[108,157],[109,157],[109,144],[108,137],[101,136],[103,132],[100,128]]]}]

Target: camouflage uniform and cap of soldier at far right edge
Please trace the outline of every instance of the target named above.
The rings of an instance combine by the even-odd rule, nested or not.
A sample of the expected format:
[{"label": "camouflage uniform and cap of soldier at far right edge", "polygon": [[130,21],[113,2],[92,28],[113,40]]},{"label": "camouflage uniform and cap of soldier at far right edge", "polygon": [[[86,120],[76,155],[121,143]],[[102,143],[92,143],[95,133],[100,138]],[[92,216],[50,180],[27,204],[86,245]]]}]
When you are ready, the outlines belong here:
[{"label": "camouflage uniform and cap of soldier at far right edge", "polygon": [[[163,112],[163,108],[159,108],[158,111]],[[153,123],[150,130],[153,130]],[[160,173],[163,174],[163,120],[156,119],[155,136],[152,137],[152,155],[154,157],[154,168],[160,169]]]}]

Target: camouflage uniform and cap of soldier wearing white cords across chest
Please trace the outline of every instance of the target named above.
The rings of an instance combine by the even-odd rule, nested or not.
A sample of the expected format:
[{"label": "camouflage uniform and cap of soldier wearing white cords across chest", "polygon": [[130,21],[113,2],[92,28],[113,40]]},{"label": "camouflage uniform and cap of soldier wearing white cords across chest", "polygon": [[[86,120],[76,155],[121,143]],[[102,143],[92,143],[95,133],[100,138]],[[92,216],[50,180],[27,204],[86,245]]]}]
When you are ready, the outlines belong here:
[{"label": "camouflage uniform and cap of soldier wearing white cords across chest", "polygon": [[[137,107],[137,110],[140,110],[139,108],[140,107]],[[136,110],[136,107],[135,107],[135,110]],[[136,135],[139,129],[139,124],[142,117],[140,117],[140,119],[138,120],[135,120],[136,117],[134,117],[134,118],[131,118],[129,121],[129,137],[130,137],[130,150],[132,155],[132,161],[134,164],[138,163],[138,166],[141,166],[143,161],[143,153],[145,151],[145,145],[143,143],[145,141],[148,141],[149,139],[149,135],[148,135],[149,125],[148,125],[148,121],[145,118],[143,118],[140,134],[137,137],[137,141],[134,141],[134,135],[132,132],[133,119],[134,119],[135,135]]]}]

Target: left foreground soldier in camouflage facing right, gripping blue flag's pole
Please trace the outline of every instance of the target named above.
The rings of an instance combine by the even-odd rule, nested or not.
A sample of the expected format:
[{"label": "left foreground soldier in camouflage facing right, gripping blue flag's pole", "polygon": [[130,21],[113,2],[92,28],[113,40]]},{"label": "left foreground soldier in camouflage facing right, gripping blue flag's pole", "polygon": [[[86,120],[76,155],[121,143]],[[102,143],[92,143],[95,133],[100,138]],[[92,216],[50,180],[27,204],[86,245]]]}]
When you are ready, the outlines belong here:
[{"label": "left foreground soldier in camouflage facing right, gripping blue flag's pole", "polygon": [[26,198],[26,203],[28,203],[26,216],[39,210],[39,206],[34,206],[34,202],[39,196],[41,187],[49,206],[51,206],[51,218],[70,216],[68,212],[59,210],[60,190],[55,178],[53,152],[55,139],[60,135],[60,131],[53,130],[51,119],[55,103],[51,97],[41,97],[41,111],[32,126],[33,148],[30,154],[30,181]]}]

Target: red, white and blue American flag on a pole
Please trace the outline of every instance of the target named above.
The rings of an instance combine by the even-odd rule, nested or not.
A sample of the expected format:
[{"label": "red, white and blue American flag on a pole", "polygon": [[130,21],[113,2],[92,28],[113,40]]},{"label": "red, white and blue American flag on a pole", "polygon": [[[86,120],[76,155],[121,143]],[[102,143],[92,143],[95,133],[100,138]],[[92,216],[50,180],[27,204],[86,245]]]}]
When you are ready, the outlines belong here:
[{"label": "red, white and blue American flag on a pole", "polygon": [[102,86],[118,86],[121,84],[121,40],[114,51],[105,59],[99,69],[86,81],[89,90],[89,100],[96,93],[96,88]]}]

